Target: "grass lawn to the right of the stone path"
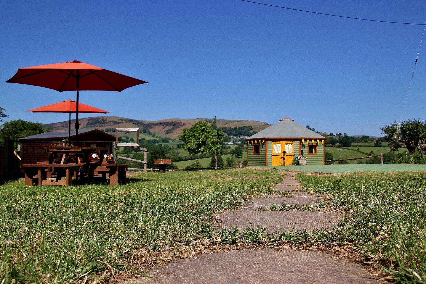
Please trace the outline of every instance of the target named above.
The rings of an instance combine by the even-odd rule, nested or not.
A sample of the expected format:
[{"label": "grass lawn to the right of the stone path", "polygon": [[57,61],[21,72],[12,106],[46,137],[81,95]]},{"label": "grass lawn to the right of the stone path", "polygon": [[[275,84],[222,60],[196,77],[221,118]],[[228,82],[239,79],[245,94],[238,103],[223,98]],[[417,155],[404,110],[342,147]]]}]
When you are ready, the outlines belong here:
[{"label": "grass lawn to the right of the stone path", "polygon": [[348,173],[298,179],[343,208],[343,228],[328,238],[351,244],[401,283],[426,283],[425,173]]}]

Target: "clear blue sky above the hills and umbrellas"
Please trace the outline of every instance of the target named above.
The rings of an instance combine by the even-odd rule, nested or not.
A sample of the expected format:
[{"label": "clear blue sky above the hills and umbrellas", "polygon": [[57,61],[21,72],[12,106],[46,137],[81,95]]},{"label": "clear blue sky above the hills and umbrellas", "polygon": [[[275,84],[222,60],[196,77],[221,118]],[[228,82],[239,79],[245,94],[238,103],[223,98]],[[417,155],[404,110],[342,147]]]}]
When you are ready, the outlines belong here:
[{"label": "clear blue sky above the hills and umbrellas", "polygon": [[[424,23],[426,1],[259,0],[295,9]],[[75,99],[5,81],[17,68],[80,60],[146,80],[80,101],[132,119],[291,117],[317,131],[381,136],[399,121],[423,26],[374,23],[239,0],[2,2],[0,107],[8,119],[51,123],[31,108]],[[426,39],[403,119],[425,120]],[[95,114],[81,114],[83,117]]]}]

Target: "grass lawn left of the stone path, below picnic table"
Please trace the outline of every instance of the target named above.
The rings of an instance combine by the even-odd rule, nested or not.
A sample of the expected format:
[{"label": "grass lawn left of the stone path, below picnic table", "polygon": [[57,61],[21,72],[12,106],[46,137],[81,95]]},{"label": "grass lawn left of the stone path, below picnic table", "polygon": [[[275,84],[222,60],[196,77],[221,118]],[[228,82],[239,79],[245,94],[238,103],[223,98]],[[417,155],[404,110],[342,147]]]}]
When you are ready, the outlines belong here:
[{"label": "grass lawn left of the stone path, below picnic table", "polygon": [[107,281],[118,271],[194,250],[211,216],[282,173],[235,169],[140,173],[125,185],[0,186],[0,282]]}]

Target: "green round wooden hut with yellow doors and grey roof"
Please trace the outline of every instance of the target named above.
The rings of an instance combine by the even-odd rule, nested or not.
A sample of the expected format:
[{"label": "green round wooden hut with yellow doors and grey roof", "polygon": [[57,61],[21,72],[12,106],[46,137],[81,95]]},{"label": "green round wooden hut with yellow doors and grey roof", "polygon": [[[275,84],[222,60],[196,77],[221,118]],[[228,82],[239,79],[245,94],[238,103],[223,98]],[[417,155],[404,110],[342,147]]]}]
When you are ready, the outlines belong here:
[{"label": "green round wooden hut with yellow doors and grey roof", "polygon": [[246,141],[249,166],[288,166],[300,155],[306,158],[308,165],[325,163],[325,137],[288,117]]}]

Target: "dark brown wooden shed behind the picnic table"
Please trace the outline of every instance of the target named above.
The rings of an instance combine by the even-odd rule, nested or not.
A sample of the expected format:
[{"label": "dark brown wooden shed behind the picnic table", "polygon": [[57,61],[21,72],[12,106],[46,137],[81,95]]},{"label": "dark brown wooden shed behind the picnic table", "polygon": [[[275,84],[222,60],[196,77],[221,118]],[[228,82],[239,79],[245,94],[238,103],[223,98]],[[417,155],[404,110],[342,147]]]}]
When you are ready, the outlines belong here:
[{"label": "dark brown wooden shed behind the picnic table", "polygon": [[[44,132],[19,139],[22,165],[47,161],[50,154],[44,149],[62,147],[66,139],[68,131]],[[75,141],[75,131],[71,131],[70,141],[73,140]],[[78,140],[78,145],[82,147],[103,147],[108,149],[108,153],[114,150],[112,143],[115,142],[115,136],[98,129],[79,131]]]}]

